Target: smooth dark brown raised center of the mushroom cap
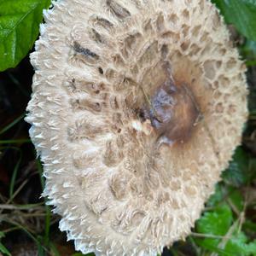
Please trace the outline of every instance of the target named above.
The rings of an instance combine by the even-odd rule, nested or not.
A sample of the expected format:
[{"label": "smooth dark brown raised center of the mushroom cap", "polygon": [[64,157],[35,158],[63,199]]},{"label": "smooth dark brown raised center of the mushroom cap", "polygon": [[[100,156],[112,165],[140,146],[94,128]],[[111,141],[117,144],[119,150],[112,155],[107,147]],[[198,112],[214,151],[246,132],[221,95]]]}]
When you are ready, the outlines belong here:
[{"label": "smooth dark brown raised center of the mushroom cap", "polygon": [[189,87],[175,84],[172,79],[166,80],[148,99],[143,113],[158,133],[160,143],[169,145],[188,140],[201,116]]}]

